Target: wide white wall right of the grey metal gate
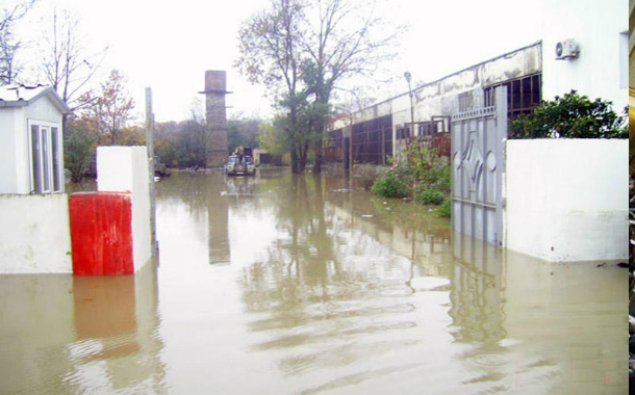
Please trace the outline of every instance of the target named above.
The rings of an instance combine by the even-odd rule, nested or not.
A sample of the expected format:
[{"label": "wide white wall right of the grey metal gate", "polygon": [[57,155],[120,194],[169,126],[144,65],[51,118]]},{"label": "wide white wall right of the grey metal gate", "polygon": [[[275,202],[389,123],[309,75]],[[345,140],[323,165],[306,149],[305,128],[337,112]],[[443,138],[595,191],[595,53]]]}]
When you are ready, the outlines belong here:
[{"label": "wide white wall right of the grey metal gate", "polygon": [[628,141],[507,142],[506,246],[547,261],[628,259]]}]

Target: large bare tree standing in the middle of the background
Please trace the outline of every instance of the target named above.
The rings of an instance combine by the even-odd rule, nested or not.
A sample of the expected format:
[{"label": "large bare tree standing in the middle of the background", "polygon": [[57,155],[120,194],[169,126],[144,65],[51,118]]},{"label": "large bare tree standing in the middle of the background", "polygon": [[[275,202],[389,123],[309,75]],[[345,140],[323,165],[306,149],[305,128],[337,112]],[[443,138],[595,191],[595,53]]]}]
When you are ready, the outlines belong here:
[{"label": "large bare tree standing in the middle of the background", "polygon": [[347,78],[372,76],[394,57],[400,30],[360,0],[272,0],[271,11],[243,25],[237,65],[252,82],[286,88],[279,104],[289,113],[292,159],[297,152],[301,162],[311,144],[320,172],[333,90]]}]

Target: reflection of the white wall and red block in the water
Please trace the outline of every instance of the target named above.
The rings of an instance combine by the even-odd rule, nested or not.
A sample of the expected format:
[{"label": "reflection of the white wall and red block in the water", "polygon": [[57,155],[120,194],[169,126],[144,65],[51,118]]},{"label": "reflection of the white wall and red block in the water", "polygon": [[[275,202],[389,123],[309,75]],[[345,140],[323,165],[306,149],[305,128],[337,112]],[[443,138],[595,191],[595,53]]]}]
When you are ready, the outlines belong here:
[{"label": "reflection of the white wall and red block in the water", "polygon": [[161,392],[157,303],[154,268],[0,277],[0,392]]}]

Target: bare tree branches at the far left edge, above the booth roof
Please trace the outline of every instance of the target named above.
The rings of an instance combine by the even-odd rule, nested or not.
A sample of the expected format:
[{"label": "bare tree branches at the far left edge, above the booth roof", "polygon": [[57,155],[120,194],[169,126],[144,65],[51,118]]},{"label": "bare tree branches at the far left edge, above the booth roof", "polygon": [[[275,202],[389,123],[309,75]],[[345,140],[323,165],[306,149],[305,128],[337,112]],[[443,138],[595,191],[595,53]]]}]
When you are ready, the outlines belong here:
[{"label": "bare tree branches at the far left edge, above the booth roof", "polygon": [[13,29],[15,22],[26,15],[35,1],[8,2],[0,9],[0,85],[14,83],[18,77],[15,56],[21,43],[13,35]]}]

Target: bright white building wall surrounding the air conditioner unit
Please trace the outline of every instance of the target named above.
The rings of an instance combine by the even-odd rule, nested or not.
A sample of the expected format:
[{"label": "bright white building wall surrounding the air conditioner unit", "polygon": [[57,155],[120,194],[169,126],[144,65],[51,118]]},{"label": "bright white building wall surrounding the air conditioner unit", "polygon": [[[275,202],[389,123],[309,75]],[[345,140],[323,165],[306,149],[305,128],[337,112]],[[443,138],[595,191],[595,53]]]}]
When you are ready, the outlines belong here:
[{"label": "bright white building wall surrounding the air conditioner unit", "polygon": [[[542,18],[543,99],[575,89],[613,102],[621,112],[628,99],[628,1],[545,1]],[[580,55],[556,60],[556,43],[575,39]],[[625,53],[623,51],[626,51]],[[626,77],[624,81],[622,81]]]}]

